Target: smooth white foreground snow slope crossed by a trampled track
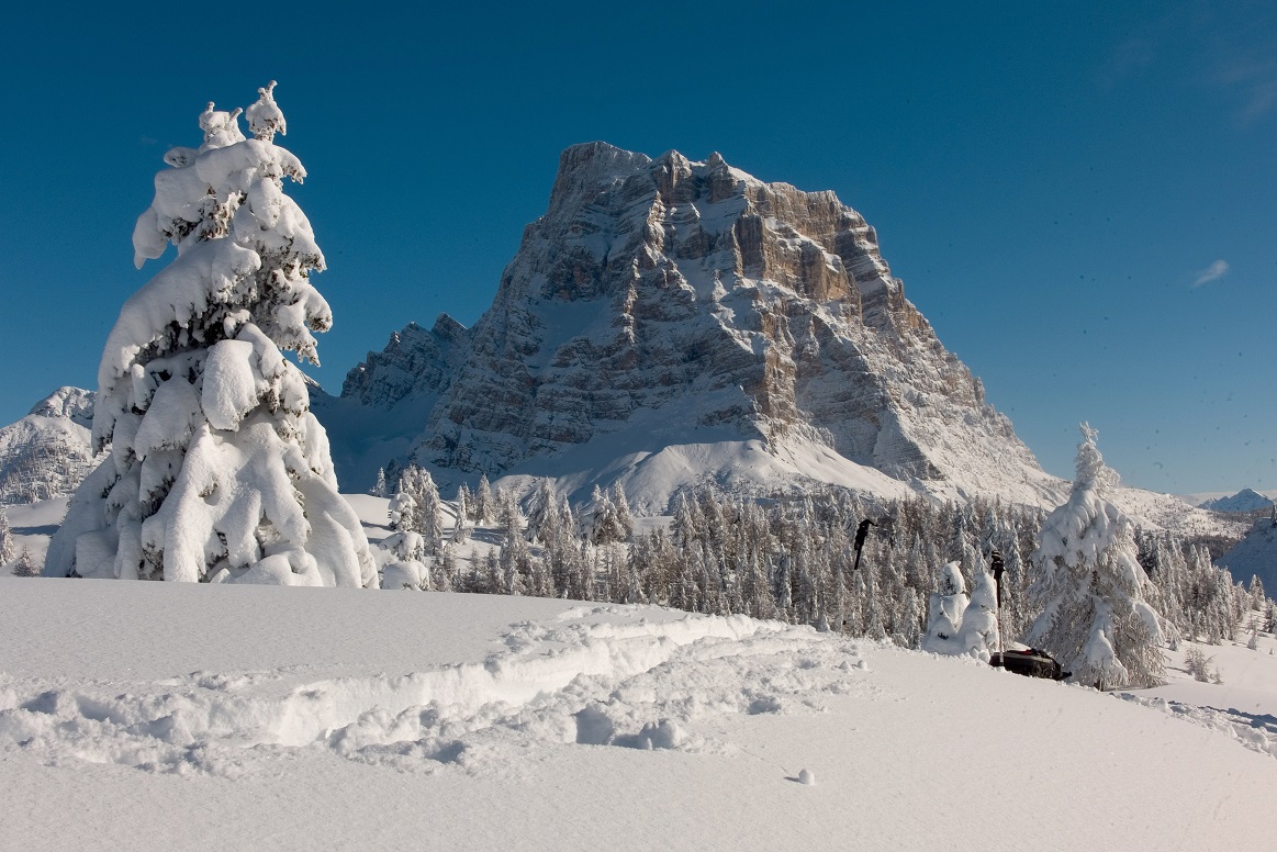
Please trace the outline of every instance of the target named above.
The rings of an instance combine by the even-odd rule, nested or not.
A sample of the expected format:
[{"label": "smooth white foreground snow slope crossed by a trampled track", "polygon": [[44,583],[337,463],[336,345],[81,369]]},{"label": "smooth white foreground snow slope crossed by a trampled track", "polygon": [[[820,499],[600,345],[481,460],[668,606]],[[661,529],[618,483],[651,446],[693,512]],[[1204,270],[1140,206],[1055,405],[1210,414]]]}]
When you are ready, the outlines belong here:
[{"label": "smooth white foreground snow slope crossed by a trampled track", "polygon": [[1235,849],[1277,832],[1267,740],[779,623],[4,579],[0,648],[13,848]]}]

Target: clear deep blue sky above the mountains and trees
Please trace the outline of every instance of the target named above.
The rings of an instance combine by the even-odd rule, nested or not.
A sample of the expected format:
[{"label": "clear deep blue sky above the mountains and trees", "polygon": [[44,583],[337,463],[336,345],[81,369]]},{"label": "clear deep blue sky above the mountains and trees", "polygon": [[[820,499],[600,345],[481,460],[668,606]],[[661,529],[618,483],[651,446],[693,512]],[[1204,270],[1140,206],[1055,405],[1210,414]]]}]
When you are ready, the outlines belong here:
[{"label": "clear deep blue sky above the mountains and trees", "polygon": [[1051,473],[1085,419],[1129,484],[1277,488],[1271,3],[223,9],[6,15],[0,422],[94,386],[161,156],[277,79],[333,392],[488,308],[562,148],[719,151],[859,209]]}]

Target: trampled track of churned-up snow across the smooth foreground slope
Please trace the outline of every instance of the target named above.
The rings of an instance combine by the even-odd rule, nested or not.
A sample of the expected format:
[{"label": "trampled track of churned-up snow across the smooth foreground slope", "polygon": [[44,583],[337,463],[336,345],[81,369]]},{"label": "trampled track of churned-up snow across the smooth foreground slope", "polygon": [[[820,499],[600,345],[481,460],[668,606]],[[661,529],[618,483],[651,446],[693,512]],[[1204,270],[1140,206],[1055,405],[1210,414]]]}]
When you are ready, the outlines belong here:
[{"label": "trampled track of churned-up snow across the smooth foreground slope", "polygon": [[[650,614],[650,613],[649,613]],[[820,711],[870,688],[865,643],[743,616],[635,618],[580,607],[513,626],[483,663],[323,680],[254,695],[287,674],[66,685],[0,674],[0,752],[227,778],[277,772],[296,750],[404,772],[508,772],[552,745],[725,754],[697,733],[729,715]],[[121,691],[128,690],[128,691]]]}]

